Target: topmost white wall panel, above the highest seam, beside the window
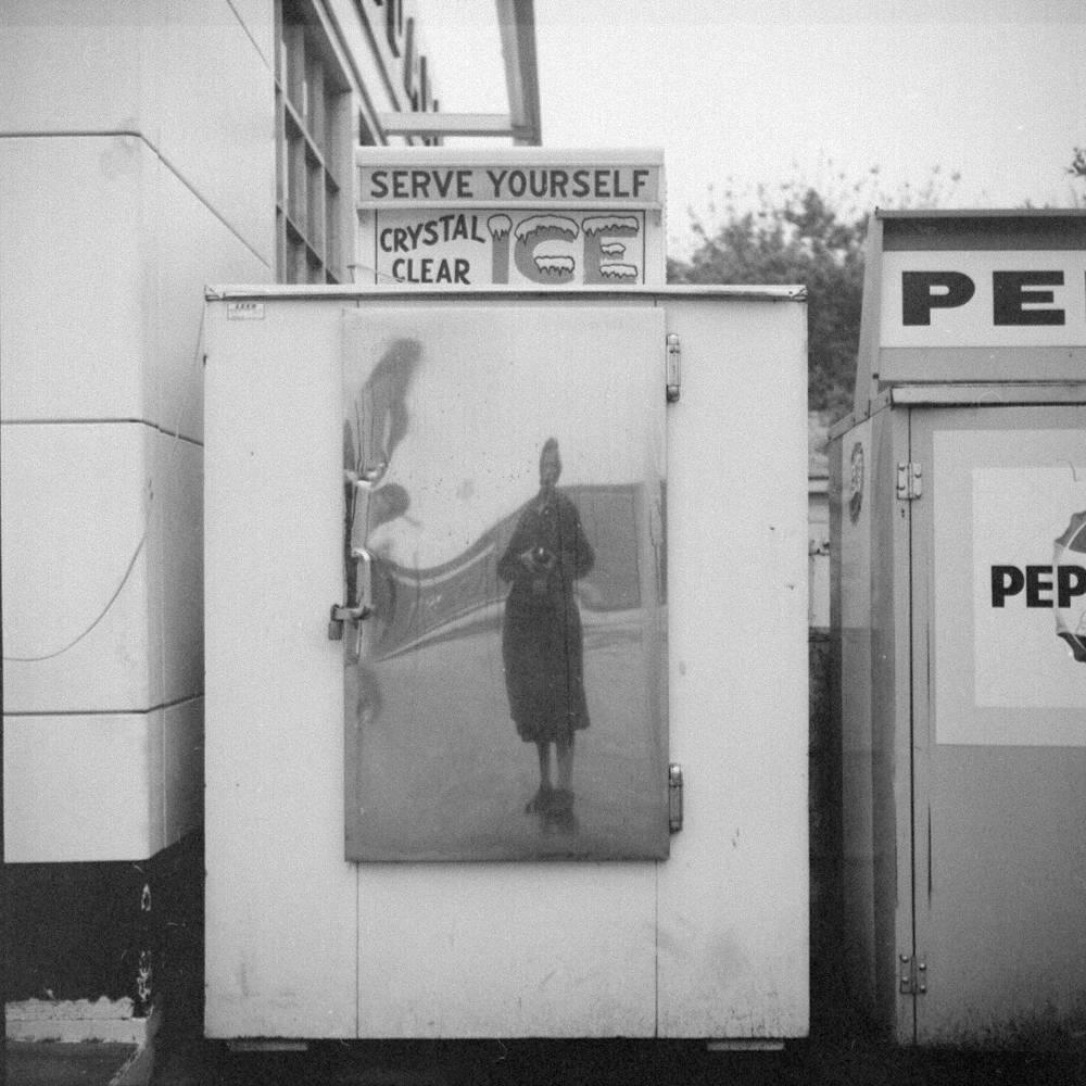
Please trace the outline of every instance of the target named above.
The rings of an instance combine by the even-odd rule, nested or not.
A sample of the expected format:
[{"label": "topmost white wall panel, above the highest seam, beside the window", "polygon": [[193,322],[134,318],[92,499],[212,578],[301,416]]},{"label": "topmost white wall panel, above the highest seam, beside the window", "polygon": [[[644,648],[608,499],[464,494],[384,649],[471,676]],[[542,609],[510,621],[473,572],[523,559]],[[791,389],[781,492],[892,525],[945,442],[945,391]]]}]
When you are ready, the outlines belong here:
[{"label": "topmost white wall panel, above the highest seam, beside the window", "polygon": [[242,25],[227,0],[7,0],[0,132],[142,137],[270,263],[270,12],[254,0]]}]

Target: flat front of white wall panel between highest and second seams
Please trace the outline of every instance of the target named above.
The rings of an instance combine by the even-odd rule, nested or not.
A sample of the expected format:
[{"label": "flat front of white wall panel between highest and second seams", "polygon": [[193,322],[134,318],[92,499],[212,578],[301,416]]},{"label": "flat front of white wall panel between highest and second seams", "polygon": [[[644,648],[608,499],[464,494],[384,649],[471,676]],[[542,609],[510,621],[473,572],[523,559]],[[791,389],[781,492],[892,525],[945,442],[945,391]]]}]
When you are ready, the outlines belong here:
[{"label": "flat front of white wall panel between highest and second seams", "polygon": [[134,137],[0,139],[0,392],[7,419],[148,418]]}]

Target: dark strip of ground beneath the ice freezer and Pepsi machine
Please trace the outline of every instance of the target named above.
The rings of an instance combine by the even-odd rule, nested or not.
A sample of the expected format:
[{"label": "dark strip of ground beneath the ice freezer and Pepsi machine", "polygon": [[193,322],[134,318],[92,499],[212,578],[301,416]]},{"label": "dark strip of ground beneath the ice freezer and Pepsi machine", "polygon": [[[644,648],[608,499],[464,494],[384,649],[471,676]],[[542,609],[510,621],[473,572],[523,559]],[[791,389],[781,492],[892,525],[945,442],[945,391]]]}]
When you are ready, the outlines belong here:
[{"label": "dark strip of ground beneath the ice freezer and Pepsi machine", "polygon": [[710,1052],[703,1044],[417,1041],[316,1045],[306,1052],[217,1048],[163,1053],[153,1079],[169,1086],[1076,1086],[1086,1053],[963,1053],[873,1043],[797,1043],[783,1052]]}]

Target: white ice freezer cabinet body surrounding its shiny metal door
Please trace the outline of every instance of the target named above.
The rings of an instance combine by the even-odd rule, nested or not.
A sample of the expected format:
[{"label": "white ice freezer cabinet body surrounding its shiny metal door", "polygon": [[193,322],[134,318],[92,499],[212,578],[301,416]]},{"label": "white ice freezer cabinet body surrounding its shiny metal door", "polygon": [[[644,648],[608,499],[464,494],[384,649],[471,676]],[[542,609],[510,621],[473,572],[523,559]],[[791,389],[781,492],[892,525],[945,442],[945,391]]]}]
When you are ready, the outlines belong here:
[{"label": "white ice freezer cabinet body surrounding its shiny metal door", "polygon": [[[206,384],[213,1037],[806,1033],[806,463],[787,290],[224,290]],[[669,753],[659,860],[344,859],[341,326],[413,306],[662,311]],[[482,346],[487,349],[485,344]],[[659,396],[665,395],[665,343]],[[570,375],[563,375],[569,379]]]}]

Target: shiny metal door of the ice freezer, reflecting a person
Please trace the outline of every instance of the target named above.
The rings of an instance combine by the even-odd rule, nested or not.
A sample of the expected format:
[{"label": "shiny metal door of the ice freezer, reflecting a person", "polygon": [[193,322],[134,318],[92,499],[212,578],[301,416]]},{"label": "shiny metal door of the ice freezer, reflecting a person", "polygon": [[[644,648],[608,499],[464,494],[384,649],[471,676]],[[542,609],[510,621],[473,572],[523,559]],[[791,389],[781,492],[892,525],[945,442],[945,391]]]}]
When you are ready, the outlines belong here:
[{"label": "shiny metal door of the ice freezer, reflecting a person", "polygon": [[667,856],[664,344],[648,307],[344,314],[349,859]]}]

